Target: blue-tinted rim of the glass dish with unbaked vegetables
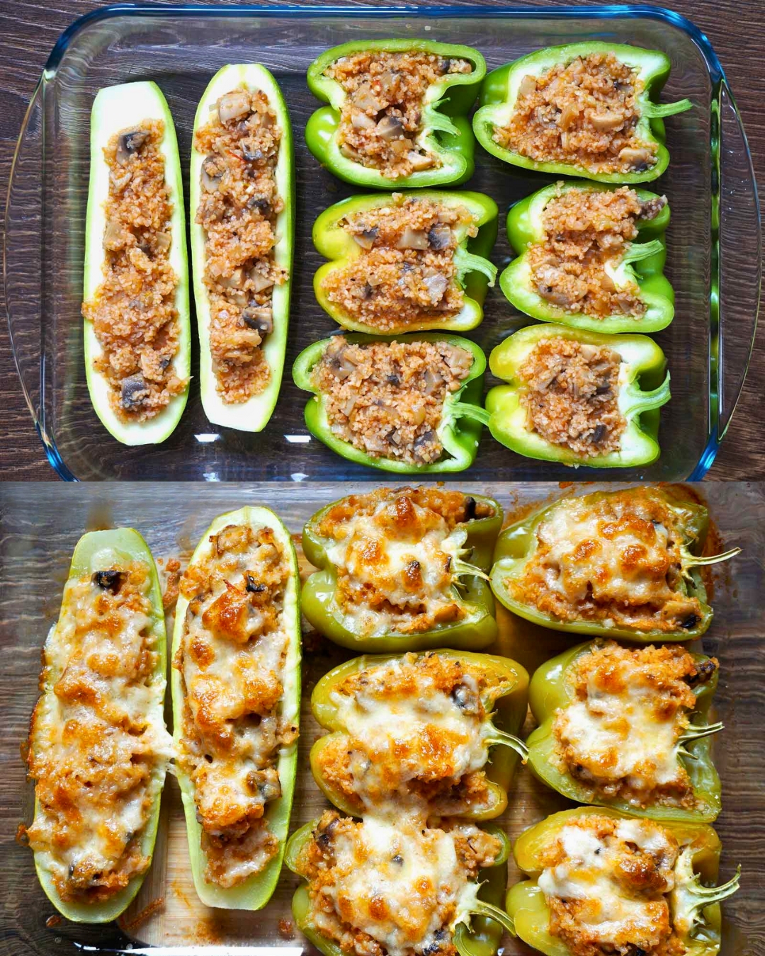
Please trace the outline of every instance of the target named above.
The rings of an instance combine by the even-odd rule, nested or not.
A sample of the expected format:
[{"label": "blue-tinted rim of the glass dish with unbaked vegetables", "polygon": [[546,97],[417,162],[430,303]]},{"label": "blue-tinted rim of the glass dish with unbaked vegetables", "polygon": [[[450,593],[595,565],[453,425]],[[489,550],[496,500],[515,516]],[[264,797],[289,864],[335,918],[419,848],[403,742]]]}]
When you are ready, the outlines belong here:
[{"label": "blue-tinted rim of the glass dish with unbaked vegetables", "polygon": [[[699,27],[693,23],[692,20],[689,20],[688,17],[684,16],[682,13],[676,11],[668,10],[665,7],[650,7],[645,4],[605,4],[602,6],[594,7],[577,7],[577,6],[566,6],[566,7],[557,7],[549,8],[543,6],[531,6],[531,7],[516,7],[514,5],[502,5],[497,7],[478,7],[471,4],[459,4],[455,6],[444,6],[441,4],[434,6],[426,6],[425,4],[390,4],[385,7],[371,7],[371,6],[347,6],[342,4],[332,4],[328,6],[309,6],[305,4],[293,4],[288,3],[283,6],[264,6],[261,4],[245,4],[243,6],[212,6],[210,4],[143,4],[143,3],[116,3],[108,4],[105,7],[101,7],[94,11],[89,11],[77,17],[67,29],[60,34],[58,39],[55,42],[54,48],[51,51],[51,54],[48,56],[46,61],[45,69],[43,71],[43,77],[47,78],[49,76],[55,76],[56,69],[61,62],[63,55],[66,53],[69,45],[72,40],[75,38],[77,33],[80,33],[83,29],[91,26],[94,23],[99,23],[104,20],[112,19],[118,16],[148,16],[148,17],[162,17],[167,15],[194,15],[194,16],[223,16],[230,17],[231,19],[242,18],[245,16],[251,15],[264,16],[269,18],[276,18],[279,16],[285,16],[287,18],[298,16],[298,17],[315,17],[315,16],[324,16],[324,17],[343,17],[350,14],[356,16],[363,15],[369,16],[373,19],[385,19],[398,16],[413,16],[413,17],[434,17],[434,18],[464,18],[467,16],[478,17],[481,19],[492,19],[496,17],[505,17],[513,16],[519,19],[528,19],[532,20],[537,17],[543,16],[546,18],[554,19],[573,19],[579,18],[584,20],[593,20],[601,21],[607,19],[633,19],[633,18],[647,18],[658,20],[660,22],[665,22],[678,30],[686,33],[691,41],[695,44],[696,48],[704,57],[705,64],[710,74],[710,80],[712,84],[712,104],[715,103],[719,97],[720,89],[723,85],[728,88],[729,95],[731,96],[731,101],[734,109],[735,107],[734,100],[730,91],[730,86],[728,85],[728,79],[725,75],[723,66],[714,51],[714,48],[711,45],[710,39],[706,33],[704,33]],[[746,134],[743,130],[743,125],[741,126],[742,136],[744,138],[745,148],[747,155],[750,159],[751,164],[751,154],[749,151],[749,144],[746,140]],[[716,137],[712,136],[711,138],[711,147],[714,150],[715,148],[719,149],[719,146],[715,145]],[[717,157],[719,159],[719,157]],[[753,175],[754,181],[754,175]],[[719,183],[717,185],[719,189]],[[754,190],[754,202],[757,210],[757,217],[759,218],[759,198],[756,190]],[[712,203],[715,206],[719,206],[719,192],[713,192]],[[714,220],[714,209],[712,209],[712,219]],[[718,246],[719,238],[718,236],[712,237],[713,244]],[[719,248],[719,246],[718,246]],[[718,256],[719,261],[719,256]],[[720,434],[719,422],[718,422],[718,412],[719,406],[716,403],[719,388],[720,388],[720,376],[721,369],[717,367],[716,355],[718,351],[719,343],[719,266],[718,271],[715,276],[712,276],[712,283],[710,288],[710,322],[712,325],[711,329],[711,338],[712,338],[712,348],[710,349],[710,430],[707,438],[707,444],[701,452],[699,461],[696,466],[693,468],[693,471],[689,474],[688,481],[700,481],[706,473],[709,471],[714,459],[717,455],[717,452],[720,448],[722,438],[724,436],[724,431]],[[756,329],[756,318],[755,318],[755,329]],[[754,335],[752,346],[754,347]],[[750,349],[751,356],[751,349]],[[747,365],[749,361],[747,361]],[[743,388],[743,384],[742,384]],[[740,397],[740,392],[739,392]],[[736,399],[737,403],[737,399]],[[728,416],[728,424],[732,420],[732,414],[735,410],[735,407],[731,410],[731,413]],[[726,429],[727,430],[727,425]],[[46,440],[45,436],[42,433],[42,430],[37,425],[37,431],[42,440],[42,444],[45,448],[48,461],[51,466],[55,469],[55,472],[61,477],[64,481],[77,481],[75,475],[72,474],[70,469],[66,466],[63,460],[58,453],[58,449],[55,447],[55,444],[50,443]]]}]

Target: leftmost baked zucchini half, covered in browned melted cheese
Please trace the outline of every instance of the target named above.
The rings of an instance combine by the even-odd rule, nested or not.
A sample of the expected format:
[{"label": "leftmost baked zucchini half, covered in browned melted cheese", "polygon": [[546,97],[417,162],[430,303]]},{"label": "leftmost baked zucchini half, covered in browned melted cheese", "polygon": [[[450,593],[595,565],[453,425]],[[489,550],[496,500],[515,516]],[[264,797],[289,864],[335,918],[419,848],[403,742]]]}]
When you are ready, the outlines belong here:
[{"label": "leftmost baked zucchini half, covered in browned melted cheese", "polygon": [[34,866],[76,923],[116,919],[151,863],[170,736],[164,611],[138,532],[77,543],[30,728]]}]

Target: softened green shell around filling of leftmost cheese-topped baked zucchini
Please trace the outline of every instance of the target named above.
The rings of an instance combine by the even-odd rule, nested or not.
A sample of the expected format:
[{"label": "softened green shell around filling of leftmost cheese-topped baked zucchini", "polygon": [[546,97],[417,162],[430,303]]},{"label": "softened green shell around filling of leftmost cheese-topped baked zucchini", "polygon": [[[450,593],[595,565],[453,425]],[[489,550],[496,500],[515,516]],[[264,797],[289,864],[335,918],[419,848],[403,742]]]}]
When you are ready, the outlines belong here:
[{"label": "softened green shell around filling of leftmost cheese-topped baked zucchini", "polygon": [[[42,721],[36,718],[38,716],[42,717],[46,712],[50,712],[50,710],[55,707],[54,686],[61,677],[61,671],[51,665],[52,661],[49,656],[49,650],[55,648],[55,642],[59,638],[59,629],[63,631],[67,626],[67,616],[72,611],[70,607],[70,587],[76,584],[83,576],[92,576],[97,571],[102,571],[105,568],[119,568],[120,565],[136,560],[144,562],[149,570],[149,599],[152,608],[149,627],[151,634],[154,636],[153,650],[157,656],[151,686],[153,688],[156,687],[159,693],[157,693],[154,705],[146,716],[154,725],[154,728],[162,729],[162,735],[166,736],[169,744],[169,735],[164,729],[164,687],[167,667],[167,642],[164,632],[164,609],[157,567],[142,536],[131,528],[118,528],[114,531],[89,532],[84,534],[77,543],[75,553],[72,557],[69,577],[61,600],[61,614],[58,621],[51,628],[45,645],[45,660],[46,663],[49,664],[49,667],[45,673],[45,683],[41,688],[42,695],[37,707],[35,707],[33,715],[32,731],[30,734],[31,751],[36,749],[35,745],[44,746],[41,740],[37,740],[37,735],[44,730],[44,726],[41,726]],[[169,756],[169,752],[163,754],[163,756]],[[150,786],[156,789],[156,794],[153,799],[151,813],[143,826],[141,839],[142,854],[149,858],[153,853],[154,843],[157,837],[165,766],[166,761],[164,759],[157,760],[151,776]],[[39,813],[40,806],[35,799],[35,819]],[[46,852],[36,851],[34,853],[34,867],[46,896],[55,905],[55,908],[62,916],[75,923],[108,923],[111,920],[117,919],[120,913],[122,913],[136,897],[146,872],[148,872],[147,868],[142,874],[133,877],[123,889],[106,901],[71,902],[62,900],[59,896],[53,880],[51,862],[51,858]]]}]

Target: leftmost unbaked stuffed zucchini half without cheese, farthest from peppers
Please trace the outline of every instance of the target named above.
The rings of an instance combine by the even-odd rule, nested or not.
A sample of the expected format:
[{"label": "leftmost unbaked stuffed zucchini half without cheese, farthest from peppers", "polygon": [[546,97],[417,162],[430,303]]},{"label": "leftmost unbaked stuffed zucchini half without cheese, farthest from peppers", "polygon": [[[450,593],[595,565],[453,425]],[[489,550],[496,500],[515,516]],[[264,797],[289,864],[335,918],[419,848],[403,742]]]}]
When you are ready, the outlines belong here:
[{"label": "leftmost unbaked stuffed zucchini half without cheese, farthest from peppers", "polygon": [[93,103],[82,315],[101,423],[124,445],[164,442],[186,407],[190,325],[181,163],[156,83]]}]

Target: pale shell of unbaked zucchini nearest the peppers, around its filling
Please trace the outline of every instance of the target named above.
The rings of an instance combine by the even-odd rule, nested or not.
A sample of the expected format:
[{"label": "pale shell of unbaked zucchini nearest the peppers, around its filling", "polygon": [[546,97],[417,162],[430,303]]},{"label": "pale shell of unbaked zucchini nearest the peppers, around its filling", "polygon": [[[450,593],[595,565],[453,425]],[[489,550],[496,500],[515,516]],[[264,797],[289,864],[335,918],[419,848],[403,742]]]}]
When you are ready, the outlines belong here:
[{"label": "pale shell of unbaked zucchini nearest the peppers, around its filling", "polygon": [[200,174],[205,157],[195,148],[192,138],[191,163],[189,168],[188,196],[191,235],[191,259],[194,272],[194,301],[199,325],[199,381],[202,405],[211,424],[239,431],[262,431],[268,424],[276,406],[284,371],[287,351],[287,327],[290,318],[290,294],[292,290],[293,251],[295,246],[295,168],[293,158],[293,134],[290,115],[281,90],[271,73],[259,63],[239,63],[222,67],[209,81],[208,88],[199,101],[194,117],[194,133],[209,119],[210,107],[224,94],[237,87],[246,86],[251,92],[262,90],[276,115],[281,129],[279,156],[275,179],[284,208],[276,217],[276,245],[273,250],[277,265],[289,272],[288,280],[273,287],[273,332],[263,345],[266,361],[271,369],[271,380],[260,395],[253,395],[247,402],[230,404],[224,402],[215,387],[215,374],[209,350],[209,300],[205,286],[205,230],[196,222],[200,198]]}]

